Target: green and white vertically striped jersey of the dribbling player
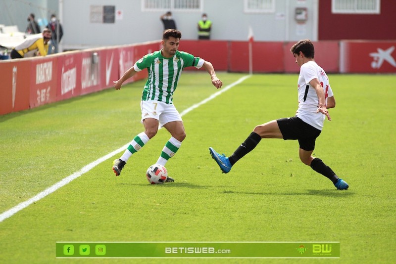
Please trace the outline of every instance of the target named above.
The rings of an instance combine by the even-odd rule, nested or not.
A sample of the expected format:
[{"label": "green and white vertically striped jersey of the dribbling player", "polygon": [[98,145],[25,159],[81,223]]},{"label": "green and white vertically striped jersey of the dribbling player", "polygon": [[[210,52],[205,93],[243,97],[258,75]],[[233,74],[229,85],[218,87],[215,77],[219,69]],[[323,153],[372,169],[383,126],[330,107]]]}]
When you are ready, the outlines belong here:
[{"label": "green and white vertically striped jersey of the dribbling player", "polygon": [[147,54],[134,65],[137,72],[145,68],[148,70],[142,101],[155,100],[173,104],[173,92],[183,69],[190,66],[199,69],[204,62],[203,59],[183,51],[176,51],[172,58],[163,57],[161,50]]}]

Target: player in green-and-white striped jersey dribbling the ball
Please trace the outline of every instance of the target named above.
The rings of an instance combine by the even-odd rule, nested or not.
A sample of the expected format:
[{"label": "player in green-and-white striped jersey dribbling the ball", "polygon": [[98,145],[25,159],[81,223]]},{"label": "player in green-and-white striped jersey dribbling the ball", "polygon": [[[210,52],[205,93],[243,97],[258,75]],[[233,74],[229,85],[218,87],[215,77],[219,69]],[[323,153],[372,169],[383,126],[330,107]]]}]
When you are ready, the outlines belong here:
[{"label": "player in green-and-white striped jersey dribbling the ball", "polygon": [[[157,164],[165,166],[166,162],[175,155],[186,137],[183,121],[173,105],[173,93],[177,87],[180,75],[184,68],[194,66],[203,67],[210,75],[212,84],[221,88],[223,83],[216,77],[213,65],[199,57],[187,52],[179,51],[179,43],[182,34],[175,29],[167,29],[162,35],[162,49],[147,54],[127,70],[116,82],[116,90],[137,72],[148,69],[148,80],[143,89],[141,109],[145,131],[139,133],[131,141],[124,154],[113,162],[113,171],[119,176],[121,170],[132,154],[139,151],[149,139],[158,131],[158,124],[164,127],[170,134],[169,141],[162,149]],[[168,176],[166,181],[174,181]]]}]

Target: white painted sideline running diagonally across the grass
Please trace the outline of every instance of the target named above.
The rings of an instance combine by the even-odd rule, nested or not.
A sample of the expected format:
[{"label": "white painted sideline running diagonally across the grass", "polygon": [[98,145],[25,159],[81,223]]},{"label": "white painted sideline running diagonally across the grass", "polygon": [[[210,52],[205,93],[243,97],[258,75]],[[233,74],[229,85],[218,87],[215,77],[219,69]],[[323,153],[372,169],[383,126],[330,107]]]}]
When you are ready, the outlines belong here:
[{"label": "white painted sideline running diagonally across the grass", "polygon": [[[193,106],[187,108],[186,110],[184,110],[183,112],[180,113],[181,116],[184,116],[185,114],[191,112],[192,110],[198,108],[200,105],[207,103],[208,101],[212,100],[213,98],[219,96],[221,93],[225,92],[226,90],[229,90],[230,88],[233,88],[234,86],[242,83],[243,81],[245,81],[247,78],[251,77],[251,75],[246,75],[242,78],[240,78],[238,81],[232,83],[231,85],[228,85],[224,88],[221,88],[221,90],[213,93],[212,95],[210,95],[209,97],[207,97],[206,99],[200,101],[197,104],[194,104]],[[57,183],[55,183],[54,185],[52,185],[51,187],[49,187],[48,189],[40,192],[39,194],[37,194],[36,196],[30,198],[29,200],[22,202],[20,204],[18,204],[17,206],[5,211],[4,213],[2,213],[0,215],[0,222],[2,222],[3,220],[12,217],[14,214],[18,213],[19,211],[21,211],[22,209],[28,207],[29,205],[41,200],[42,198],[46,197],[47,195],[53,193],[54,191],[56,191],[57,189],[59,189],[60,187],[63,187],[64,185],[66,185],[67,183],[71,182],[73,179],[78,178],[79,176],[82,176],[83,174],[91,171],[93,168],[95,168],[97,165],[99,165],[100,163],[102,163],[103,161],[108,160],[109,158],[113,157],[115,154],[125,150],[127,147],[129,146],[129,142],[127,144],[125,144],[124,146],[120,147],[119,149],[114,150],[113,152],[99,158],[98,160],[91,162],[90,164],[88,164],[87,166],[84,166],[80,171],[73,173],[72,175],[69,175],[67,177],[65,177],[64,179],[58,181]]]}]

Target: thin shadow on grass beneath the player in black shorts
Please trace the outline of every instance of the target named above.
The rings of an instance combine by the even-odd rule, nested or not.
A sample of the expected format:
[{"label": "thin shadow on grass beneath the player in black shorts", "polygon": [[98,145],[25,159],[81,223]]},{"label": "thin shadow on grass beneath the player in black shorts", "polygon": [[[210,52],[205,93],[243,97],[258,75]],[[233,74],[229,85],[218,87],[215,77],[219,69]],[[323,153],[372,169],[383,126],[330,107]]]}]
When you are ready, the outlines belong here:
[{"label": "thin shadow on grass beneath the player in black shorts", "polygon": [[251,195],[314,195],[314,196],[326,196],[326,197],[349,197],[354,195],[351,191],[341,190],[307,190],[307,192],[240,192],[240,191],[222,191],[222,194],[251,194]]}]

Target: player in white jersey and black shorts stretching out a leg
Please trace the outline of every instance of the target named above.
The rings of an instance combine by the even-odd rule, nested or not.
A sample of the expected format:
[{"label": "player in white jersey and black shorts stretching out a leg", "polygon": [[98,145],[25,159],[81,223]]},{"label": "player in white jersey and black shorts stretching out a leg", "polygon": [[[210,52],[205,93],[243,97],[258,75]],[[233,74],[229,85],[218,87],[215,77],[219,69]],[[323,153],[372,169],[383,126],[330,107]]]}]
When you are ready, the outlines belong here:
[{"label": "player in white jersey and black shorts stretching out a leg", "polygon": [[298,140],[299,157],[302,163],[323,176],[328,177],[339,190],[346,190],[347,182],[339,178],[323,161],[312,157],[315,140],[322,132],[324,120],[331,120],[328,108],[336,106],[329,78],[325,71],[314,60],[315,50],[310,40],[301,40],[290,49],[300,66],[298,76],[298,109],[296,116],[273,120],[256,126],[235,152],[226,157],[209,147],[212,158],[223,173],[248,152],[253,150],[261,138],[283,138]]}]

